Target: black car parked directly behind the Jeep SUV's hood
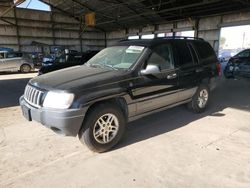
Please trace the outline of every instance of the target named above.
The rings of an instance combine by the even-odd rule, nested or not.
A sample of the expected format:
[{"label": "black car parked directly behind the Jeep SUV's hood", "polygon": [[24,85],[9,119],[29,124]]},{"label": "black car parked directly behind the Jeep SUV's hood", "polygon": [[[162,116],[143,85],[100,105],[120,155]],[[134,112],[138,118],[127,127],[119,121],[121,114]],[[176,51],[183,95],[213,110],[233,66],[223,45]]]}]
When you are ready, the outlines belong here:
[{"label": "black car parked directly behind the Jeep SUV's hood", "polygon": [[90,58],[96,55],[99,51],[87,51],[84,53],[75,52],[67,55],[63,55],[57,58],[55,63],[47,66],[42,66],[38,71],[38,75],[42,75],[48,72],[64,69],[72,66],[83,65]]}]

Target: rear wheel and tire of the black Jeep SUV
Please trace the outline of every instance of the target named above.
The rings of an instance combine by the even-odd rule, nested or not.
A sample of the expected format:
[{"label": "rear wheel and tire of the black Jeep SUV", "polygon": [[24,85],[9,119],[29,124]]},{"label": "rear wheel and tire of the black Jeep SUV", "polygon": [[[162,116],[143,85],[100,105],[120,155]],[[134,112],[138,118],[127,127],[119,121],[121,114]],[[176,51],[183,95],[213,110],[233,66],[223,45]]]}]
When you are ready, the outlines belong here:
[{"label": "rear wheel and tire of the black Jeep SUV", "polygon": [[192,100],[188,103],[188,108],[195,113],[202,113],[209,103],[210,91],[207,85],[201,85]]}]

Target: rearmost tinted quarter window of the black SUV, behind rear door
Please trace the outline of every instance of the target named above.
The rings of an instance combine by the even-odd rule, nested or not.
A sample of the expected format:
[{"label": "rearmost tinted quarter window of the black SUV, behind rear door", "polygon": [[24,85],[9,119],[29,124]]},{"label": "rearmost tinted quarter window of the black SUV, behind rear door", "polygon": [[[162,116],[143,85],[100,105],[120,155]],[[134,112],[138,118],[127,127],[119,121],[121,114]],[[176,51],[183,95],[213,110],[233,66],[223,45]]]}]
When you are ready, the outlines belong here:
[{"label": "rearmost tinted quarter window of the black SUV, behind rear door", "polygon": [[201,61],[216,59],[214,49],[207,42],[194,42],[193,45]]}]

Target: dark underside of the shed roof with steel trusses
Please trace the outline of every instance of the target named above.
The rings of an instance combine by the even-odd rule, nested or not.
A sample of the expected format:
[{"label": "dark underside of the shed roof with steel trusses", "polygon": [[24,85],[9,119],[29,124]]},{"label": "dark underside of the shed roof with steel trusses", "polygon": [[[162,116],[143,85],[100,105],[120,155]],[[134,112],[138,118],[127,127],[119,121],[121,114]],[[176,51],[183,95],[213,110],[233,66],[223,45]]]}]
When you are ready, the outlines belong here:
[{"label": "dark underside of the shed roof with steel trusses", "polygon": [[248,0],[40,0],[78,20],[96,13],[105,31],[250,10]]}]

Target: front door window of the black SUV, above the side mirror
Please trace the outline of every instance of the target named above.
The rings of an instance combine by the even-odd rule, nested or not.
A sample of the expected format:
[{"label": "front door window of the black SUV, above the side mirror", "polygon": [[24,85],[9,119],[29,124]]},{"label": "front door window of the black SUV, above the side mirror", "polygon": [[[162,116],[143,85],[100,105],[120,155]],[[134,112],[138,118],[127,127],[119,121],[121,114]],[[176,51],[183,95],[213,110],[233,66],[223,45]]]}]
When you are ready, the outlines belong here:
[{"label": "front door window of the black SUV, above the side mirror", "polygon": [[148,65],[158,65],[160,70],[173,67],[172,50],[170,44],[161,44],[153,49]]}]

